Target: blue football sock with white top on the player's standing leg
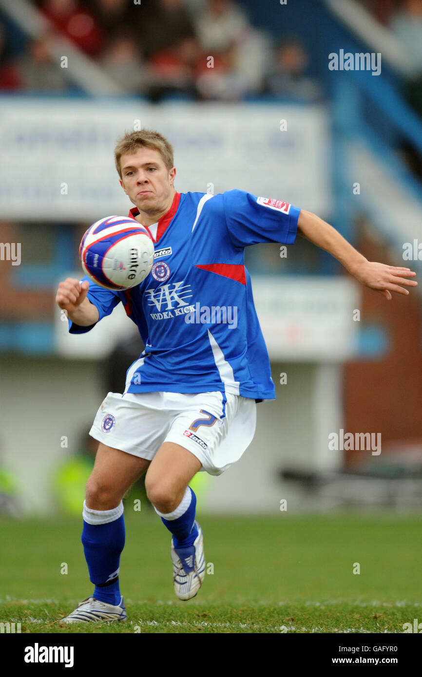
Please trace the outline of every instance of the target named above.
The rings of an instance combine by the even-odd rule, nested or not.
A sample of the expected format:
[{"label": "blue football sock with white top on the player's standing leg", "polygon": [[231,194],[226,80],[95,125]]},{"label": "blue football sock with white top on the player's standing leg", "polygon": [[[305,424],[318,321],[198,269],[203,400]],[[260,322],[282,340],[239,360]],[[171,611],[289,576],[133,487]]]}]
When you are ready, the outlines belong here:
[{"label": "blue football sock with white top on the player's standing leg", "polygon": [[[84,503],[83,517],[83,550],[89,580],[96,586],[92,596],[101,602],[119,605],[119,564],[125,546],[123,504],[112,510],[91,510]],[[106,519],[112,521],[105,521]],[[92,521],[100,523],[93,524]]]}]

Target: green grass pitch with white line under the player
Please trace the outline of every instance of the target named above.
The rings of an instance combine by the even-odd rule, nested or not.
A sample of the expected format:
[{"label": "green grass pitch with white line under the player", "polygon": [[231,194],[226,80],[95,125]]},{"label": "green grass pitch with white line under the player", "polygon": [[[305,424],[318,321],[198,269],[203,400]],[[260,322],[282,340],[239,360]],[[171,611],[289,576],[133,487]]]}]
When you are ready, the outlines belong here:
[{"label": "green grass pitch with white line under the player", "polygon": [[199,520],[208,573],[196,598],[175,597],[171,537],[159,517],[127,506],[127,621],[60,626],[93,591],[81,519],[1,519],[0,621],[20,622],[22,633],[63,634],[402,633],[404,623],[422,621],[419,515]]}]

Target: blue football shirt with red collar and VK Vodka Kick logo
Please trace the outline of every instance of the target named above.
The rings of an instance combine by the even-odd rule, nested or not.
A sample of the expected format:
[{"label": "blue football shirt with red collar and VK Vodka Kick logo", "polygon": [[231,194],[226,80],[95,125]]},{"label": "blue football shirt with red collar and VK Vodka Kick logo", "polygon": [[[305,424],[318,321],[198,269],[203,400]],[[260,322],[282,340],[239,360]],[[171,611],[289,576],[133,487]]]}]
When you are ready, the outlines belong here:
[{"label": "blue football shirt with red collar and VK Vodka Kick logo", "polygon": [[[125,392],[275,398],[245,247],[293,244],[299,212],[287,202],[242,190],[176,193],[167,214],[148,227],[154,265],[141,284],[114,291],[83,278],[99,320],[121,302],[144,341],[144,352],[127,370]],[[129,216],[138,213],[135,207]],[[92,326],[69,322],[74,334]]]}]

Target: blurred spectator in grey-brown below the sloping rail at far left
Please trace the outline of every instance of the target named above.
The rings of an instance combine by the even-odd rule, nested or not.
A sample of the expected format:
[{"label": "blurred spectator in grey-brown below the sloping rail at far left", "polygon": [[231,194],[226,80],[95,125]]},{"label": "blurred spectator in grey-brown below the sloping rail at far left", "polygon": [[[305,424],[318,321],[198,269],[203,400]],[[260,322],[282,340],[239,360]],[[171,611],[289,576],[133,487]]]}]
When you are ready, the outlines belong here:
[{"label": "blurred spectator in grey-brown below the sloping rail at far left", "polygon": [[67,70],[60,68],[47,49],[50,37],[43,36],[28,45],[18,60],[22,87],[30,91],[64,91],[69,82]]}]

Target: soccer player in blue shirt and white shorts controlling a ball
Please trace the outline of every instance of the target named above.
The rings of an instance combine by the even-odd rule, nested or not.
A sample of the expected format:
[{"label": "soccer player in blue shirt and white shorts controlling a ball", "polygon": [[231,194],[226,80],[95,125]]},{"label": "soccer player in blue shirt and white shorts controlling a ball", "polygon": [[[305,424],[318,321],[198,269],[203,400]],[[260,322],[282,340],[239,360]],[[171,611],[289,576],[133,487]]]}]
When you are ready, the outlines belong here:
[{"label": "soccer player in blue shirt and white shorts controlling a ball", "polygon": [[66,623],[126,618],[122,498],[144,473],[148,498],[172,534],[175,594],[188,600],[203,583],[203,533],[189,483],[198,471],[220,475],[236,462],[253,439],[256,402],[275,397],[245,246],[293,244],[299,233],[388,300],[417,285],[409,268],[367,261],[331,225],[288,202],[242,190],[180,194],[173,148],[159,133],[126,134],[115,161],[135,205],[129,216],[148,228],[155,261],[130,290],[68,278],[56,296],[73,334],[123,303],[145,344],[127,370],[124,393],[108,393],[90,431],[100,444],[86,485],[82,542],[95,588]]}]

